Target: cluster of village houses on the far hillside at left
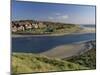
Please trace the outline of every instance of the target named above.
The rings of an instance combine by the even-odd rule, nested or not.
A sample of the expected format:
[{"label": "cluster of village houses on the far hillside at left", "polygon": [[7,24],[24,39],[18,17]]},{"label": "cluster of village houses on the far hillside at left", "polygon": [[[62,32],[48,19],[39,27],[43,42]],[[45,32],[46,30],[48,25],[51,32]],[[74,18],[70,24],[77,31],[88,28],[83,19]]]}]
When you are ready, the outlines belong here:
[{"label": "cluster of village houses on the far hillside at left", "polygon": [[12,32],[17,31],[25,31],[25,30],[34,30],[38,28],[44,28],[46,25],[44,25],[42,22],[28,22],[28,21],[15,21],[12,22]]}]

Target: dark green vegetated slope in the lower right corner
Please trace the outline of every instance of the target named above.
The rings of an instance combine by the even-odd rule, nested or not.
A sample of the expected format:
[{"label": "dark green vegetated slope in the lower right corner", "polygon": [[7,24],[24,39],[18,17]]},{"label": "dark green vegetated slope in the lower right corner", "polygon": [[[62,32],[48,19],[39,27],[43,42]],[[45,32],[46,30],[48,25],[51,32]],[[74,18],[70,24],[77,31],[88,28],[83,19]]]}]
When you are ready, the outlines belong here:
[{"label": "dark green vegetated slope in the lower right corner", "polygon": [[90,69],[96,69],[96,49],[93,48],[82,55],[70,57],[65,60],[89,67]]}]

